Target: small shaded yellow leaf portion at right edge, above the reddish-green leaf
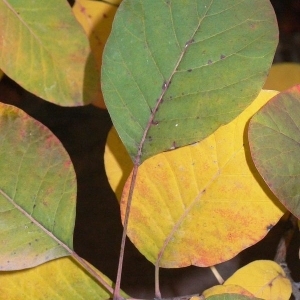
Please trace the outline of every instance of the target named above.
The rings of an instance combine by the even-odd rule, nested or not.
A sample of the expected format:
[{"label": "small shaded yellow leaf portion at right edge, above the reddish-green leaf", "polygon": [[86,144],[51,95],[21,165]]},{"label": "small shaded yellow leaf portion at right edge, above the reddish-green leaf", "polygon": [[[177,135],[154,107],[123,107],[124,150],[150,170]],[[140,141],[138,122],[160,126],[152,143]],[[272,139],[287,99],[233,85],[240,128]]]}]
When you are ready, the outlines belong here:
[{"label": "small shaded yellow leaf portion at right edge, above the reddish-green leaf", "polygon": [[285,91],[300,83],[300,64],[280,63],[274,64],[271,69],[264,89]]}]

